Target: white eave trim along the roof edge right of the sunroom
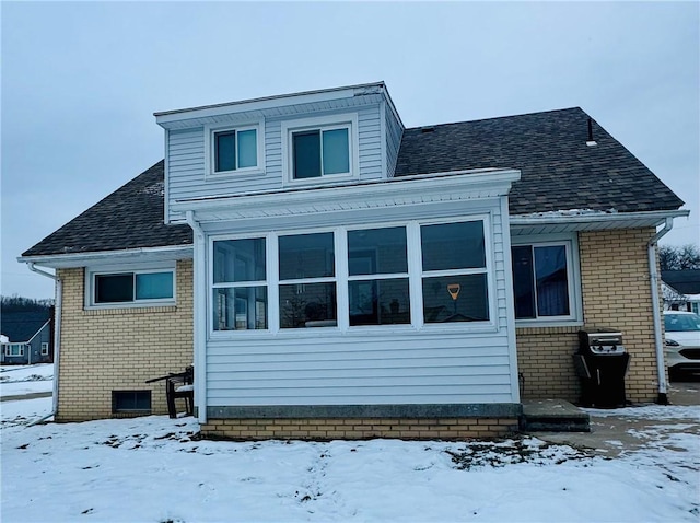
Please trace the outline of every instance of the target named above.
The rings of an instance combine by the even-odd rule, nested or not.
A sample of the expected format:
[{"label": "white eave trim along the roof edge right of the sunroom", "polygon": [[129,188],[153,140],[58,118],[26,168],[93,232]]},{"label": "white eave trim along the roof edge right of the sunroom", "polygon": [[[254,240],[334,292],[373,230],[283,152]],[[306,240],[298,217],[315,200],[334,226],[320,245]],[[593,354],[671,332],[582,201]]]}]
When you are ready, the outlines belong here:
[{"label": "white eave trim along the roof edge right of the sunroom", "polygon": [[607,224],[616,223],[639,223],[639,226],[656,226],[666,221],[667,218],[687,217],[688,209],[677,209],[667,211],[641,211],[641,212],[582,212],[562,213],[546,212],[542,214],[511,214],[511,229],[542,226],[542,225],[570,225],[574,230],[575,225]]}]

